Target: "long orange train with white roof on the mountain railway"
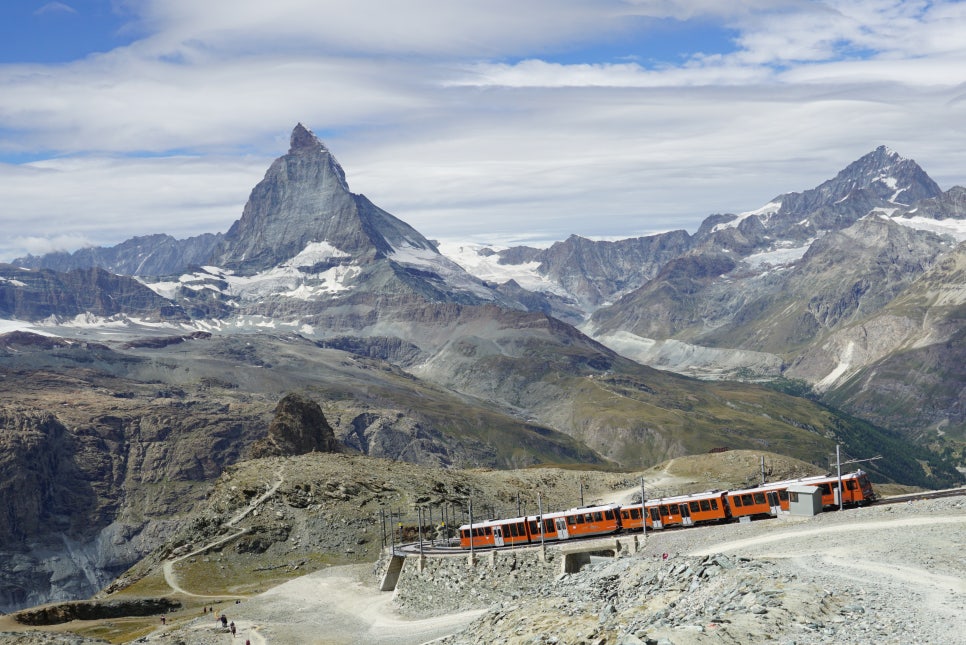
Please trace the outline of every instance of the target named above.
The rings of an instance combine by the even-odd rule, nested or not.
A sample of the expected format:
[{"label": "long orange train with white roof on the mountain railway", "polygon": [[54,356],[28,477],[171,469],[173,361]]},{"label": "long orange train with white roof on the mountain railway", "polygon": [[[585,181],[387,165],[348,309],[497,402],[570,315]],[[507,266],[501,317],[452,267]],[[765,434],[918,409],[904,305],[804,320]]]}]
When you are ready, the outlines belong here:
[{"label": "long orange train with white roof on the mountain railway", "polygon": [[[708,491],[691,495],[651,499],[645,504],[605,504],[500,520],[464,524],[459,528],[464,549],[513,546],[576,537],[609,535],[621,531],[696,526],[739,520],[743,517],[774,517],[788,510],[792,485],[816,486],[822,491],[822,505],[837,507],[838,477],[817,475],[771,482],[736,491]],[[794,493],[792,493],[794,494]],[[876,500],[866,473],[858,470],[842,475],[843,506],[862,506]],[[472,536],[471,536],[472,528]]]}]

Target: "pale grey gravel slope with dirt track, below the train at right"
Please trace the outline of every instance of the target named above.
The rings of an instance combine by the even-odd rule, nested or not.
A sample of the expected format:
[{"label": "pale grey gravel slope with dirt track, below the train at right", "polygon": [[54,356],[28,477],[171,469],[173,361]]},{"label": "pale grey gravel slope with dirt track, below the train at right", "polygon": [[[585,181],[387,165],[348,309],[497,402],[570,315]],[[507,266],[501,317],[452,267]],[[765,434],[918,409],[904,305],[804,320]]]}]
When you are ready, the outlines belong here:
[{"label": "pale grey gravel slope with dirt track, below the train at right", "polygon": [[963,536],[964,497],[654,531],[516,597],[507,580],[440,643],[963,645]]}]

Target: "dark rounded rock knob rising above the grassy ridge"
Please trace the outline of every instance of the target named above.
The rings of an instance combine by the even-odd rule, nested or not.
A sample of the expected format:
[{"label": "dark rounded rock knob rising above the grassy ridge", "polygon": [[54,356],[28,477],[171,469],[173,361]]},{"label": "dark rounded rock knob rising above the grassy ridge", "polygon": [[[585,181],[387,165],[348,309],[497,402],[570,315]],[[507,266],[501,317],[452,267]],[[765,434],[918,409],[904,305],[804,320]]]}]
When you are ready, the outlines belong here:
[{"label": "dark rounded rock knob rising above the grassy ridge", "polygon": [[252,445],[251,456],[257,459],[339,450],[339,442],[319,404],[301,394],[288,394],[275,408],[268,436]]}]

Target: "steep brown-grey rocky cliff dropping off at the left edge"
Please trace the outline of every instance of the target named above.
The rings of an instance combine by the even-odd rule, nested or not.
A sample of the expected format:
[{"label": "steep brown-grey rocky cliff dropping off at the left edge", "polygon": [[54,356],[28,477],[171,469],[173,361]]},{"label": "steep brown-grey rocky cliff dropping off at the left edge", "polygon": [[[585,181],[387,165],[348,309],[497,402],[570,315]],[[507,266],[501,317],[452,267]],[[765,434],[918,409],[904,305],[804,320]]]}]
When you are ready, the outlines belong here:
[{"label": "steep brown-grey rocky cliff dropping off at the left edge", "polygon": [[132,359],[103,346],[8,337],[0,359],[0,611],[107,584],[203,499],[251,442],[242,429],[257,427],[251,406],[229,413],[104,374]]}]

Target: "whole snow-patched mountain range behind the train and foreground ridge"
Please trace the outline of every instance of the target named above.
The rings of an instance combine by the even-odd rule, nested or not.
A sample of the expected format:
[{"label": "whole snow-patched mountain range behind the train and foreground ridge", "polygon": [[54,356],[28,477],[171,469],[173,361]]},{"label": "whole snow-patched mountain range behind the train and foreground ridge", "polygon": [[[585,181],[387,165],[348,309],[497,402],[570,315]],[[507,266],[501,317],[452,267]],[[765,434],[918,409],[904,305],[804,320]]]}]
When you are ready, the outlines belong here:
[{"label": "whole snow-patched mountain range behind the train and foreground ridge", "polygon": [[0,265],[0,609],[105,584],[290,393],[424,465],[842,444],[961,481],[964,239],[966,189],[879,147],[694,234],[438,244],[299,124],[227,233]]}]

